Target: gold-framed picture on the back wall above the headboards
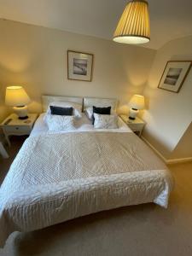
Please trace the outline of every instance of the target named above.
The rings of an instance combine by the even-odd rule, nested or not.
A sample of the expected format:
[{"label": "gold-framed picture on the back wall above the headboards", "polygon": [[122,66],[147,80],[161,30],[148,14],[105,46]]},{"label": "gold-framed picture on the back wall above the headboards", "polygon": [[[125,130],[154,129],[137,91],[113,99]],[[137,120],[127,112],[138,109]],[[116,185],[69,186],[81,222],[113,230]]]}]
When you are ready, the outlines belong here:
[{"label": "gold-framed picture on the back wall above the headboards", "polygon": [[92,79],[93,55],[67,50],[68,79],[87,81]]}]

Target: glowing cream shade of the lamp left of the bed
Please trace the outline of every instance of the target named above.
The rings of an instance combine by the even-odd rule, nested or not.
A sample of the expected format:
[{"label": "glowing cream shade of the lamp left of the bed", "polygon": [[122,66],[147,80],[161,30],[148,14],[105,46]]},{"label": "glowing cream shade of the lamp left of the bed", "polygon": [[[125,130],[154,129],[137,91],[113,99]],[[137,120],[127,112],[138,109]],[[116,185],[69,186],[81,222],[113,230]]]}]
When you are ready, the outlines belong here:
[{"label": "glowing cream shade of the lamp left of the bed", "polygon": [[11,107],[25,106],[31,102],[21,86],[9,86],[6,88],[5,104]]}]

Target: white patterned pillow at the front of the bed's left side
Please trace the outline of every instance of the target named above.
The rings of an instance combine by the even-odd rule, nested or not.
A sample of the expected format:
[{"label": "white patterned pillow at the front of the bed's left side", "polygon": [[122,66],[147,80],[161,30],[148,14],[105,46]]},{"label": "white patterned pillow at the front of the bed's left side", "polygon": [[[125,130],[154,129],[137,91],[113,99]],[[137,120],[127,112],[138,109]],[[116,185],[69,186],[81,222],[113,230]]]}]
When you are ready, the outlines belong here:
[{"label": "white patterned pillow at the front of the bed's left side", "polygon": [[74,116],[47,114],[46,122],[49,131],[66,131],[74,130]]}]

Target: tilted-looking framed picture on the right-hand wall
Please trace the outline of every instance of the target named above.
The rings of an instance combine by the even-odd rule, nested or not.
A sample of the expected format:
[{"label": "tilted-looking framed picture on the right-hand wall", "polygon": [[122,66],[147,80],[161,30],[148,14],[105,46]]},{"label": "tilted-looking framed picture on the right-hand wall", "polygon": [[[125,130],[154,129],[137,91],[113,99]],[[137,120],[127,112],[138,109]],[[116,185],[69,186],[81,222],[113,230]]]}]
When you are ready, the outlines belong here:
[{"label": "tilted-looking framed picture on the right-hand wall", "polygon": [[158,88],[178,92],[186,79],[191,61],[168,61]]}]

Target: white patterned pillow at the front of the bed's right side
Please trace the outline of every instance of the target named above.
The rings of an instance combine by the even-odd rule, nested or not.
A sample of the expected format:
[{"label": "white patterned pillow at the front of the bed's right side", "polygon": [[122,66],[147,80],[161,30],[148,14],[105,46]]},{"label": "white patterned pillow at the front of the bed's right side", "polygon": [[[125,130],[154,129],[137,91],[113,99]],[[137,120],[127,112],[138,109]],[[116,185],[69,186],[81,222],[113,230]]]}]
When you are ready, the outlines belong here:
[{"label": "white patterned pillow at the front of the bed's right side", "polygon": [[118,116],[116,114],[99,114],[94,113],[94,128],[96,129],[117,129]]}]

